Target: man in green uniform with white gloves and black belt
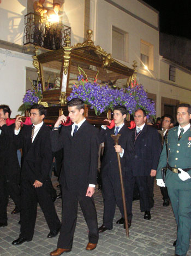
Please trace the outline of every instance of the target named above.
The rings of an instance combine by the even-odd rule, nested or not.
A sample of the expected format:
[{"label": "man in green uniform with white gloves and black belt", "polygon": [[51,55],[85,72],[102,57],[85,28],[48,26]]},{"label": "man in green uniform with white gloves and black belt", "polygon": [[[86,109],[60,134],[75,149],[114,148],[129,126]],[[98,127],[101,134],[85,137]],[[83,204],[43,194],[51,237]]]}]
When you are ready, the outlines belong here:
[{"label": "man in green uniform with white gloves and black belt", "polygon": [[[179,126],[168,132],[168,160],[164,143],[157,168],[157,185],[167,187],[177,223],[175,256],[186,256],[191,233],[191,106],[177,109]],[[162,168],[167,166],[165,183]]]}]

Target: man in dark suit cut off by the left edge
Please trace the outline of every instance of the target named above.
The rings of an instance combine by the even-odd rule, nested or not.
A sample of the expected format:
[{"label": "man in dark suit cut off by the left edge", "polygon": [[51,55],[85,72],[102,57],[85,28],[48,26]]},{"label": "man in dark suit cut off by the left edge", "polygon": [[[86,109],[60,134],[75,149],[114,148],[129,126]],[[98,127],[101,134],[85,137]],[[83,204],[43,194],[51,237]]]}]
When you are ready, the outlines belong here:
[{"label": "man in dark suit cut off by the left edge", "polygon": [[[9,106],[0,106],[0,126],[6,126],[6,119],[10,118],[10,113]],[[14,125],[7,127],[8,134],[0,130],[0,227],[7,226],[9,195],[16,206],[11,213],[20,212],[20,166],[16,145],[9,136],[9,133],[13,133],[14,127]]]}]

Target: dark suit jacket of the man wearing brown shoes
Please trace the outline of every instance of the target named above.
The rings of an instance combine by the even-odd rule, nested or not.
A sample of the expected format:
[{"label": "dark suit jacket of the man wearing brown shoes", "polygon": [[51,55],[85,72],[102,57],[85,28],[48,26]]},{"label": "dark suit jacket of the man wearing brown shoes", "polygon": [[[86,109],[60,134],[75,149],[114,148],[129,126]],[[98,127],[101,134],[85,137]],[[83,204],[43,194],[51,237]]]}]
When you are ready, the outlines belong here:
[{"label": "dark suit jacket of the man wearing brown shoes", "polygon": [[63,148],[63,165],[59,183],[71,191],[86,193],[89,184],[97,184],[98,130],[85,121],[71,136],[71,125],[51,131],[52,150]]}]

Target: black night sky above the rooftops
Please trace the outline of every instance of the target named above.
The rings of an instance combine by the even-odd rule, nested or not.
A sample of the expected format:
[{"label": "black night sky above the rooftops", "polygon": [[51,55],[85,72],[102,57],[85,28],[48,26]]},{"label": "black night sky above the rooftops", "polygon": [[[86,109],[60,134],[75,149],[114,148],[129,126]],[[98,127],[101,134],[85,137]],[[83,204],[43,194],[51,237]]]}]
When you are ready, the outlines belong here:
[{"label": "black night sky above the rooftops", "polygon": [[191,39],[190,0],[144,0],[160,12],[160,32]]}]

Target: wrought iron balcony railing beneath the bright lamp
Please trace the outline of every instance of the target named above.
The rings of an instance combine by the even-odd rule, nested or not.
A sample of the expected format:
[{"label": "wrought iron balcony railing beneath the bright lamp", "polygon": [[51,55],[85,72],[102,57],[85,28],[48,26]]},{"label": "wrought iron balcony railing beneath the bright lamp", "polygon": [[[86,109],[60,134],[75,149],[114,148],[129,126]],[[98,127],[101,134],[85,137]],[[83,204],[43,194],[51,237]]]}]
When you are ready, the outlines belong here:
[{"label": "wrought iron balcony railing beneath the bright lamp", "polygon": [[71,28],[62,23],[47,22],[43,16],[34,13],[25,15],[25,30],[23,44],[34,44],[50,50],[65,46],[64,38],[69,35]]}]

